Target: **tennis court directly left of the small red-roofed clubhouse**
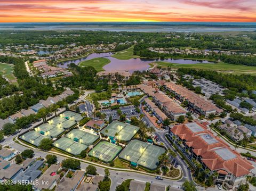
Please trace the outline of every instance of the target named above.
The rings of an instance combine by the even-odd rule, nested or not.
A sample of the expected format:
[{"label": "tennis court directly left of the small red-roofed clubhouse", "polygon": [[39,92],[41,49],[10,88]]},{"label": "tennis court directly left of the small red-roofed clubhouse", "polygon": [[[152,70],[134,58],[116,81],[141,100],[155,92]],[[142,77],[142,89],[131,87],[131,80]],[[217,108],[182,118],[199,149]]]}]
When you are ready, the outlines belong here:
[{"label": "tennis court directly left of the small red-roofed clubhouse", "polygon": [[85,145],[93,145],[93,143],[99,138],[97,135],[93,135],[79,129],[71,130],[65,135],[65,137]]}]

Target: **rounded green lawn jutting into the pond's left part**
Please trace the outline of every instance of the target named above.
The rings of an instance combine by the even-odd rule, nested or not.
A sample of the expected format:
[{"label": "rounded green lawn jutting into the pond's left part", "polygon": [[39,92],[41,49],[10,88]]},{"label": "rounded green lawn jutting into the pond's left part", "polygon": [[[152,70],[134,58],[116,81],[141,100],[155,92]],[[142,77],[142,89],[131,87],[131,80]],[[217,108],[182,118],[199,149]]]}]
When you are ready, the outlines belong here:
[{"label": "rounded green lawn jutting into the pond's left part", "polygon": [[102,67],[104,67],[105,65],[107,65],[109,63],[110,63],[109,59],[106,59],[104,57],[97,57],[95,59],[86,60],[86,61],[81,62],[79,64],[79,66],[80,67],[91,66],[91,67],[95,68],[95,70],[100,72],[100,71],[105,71]]}]

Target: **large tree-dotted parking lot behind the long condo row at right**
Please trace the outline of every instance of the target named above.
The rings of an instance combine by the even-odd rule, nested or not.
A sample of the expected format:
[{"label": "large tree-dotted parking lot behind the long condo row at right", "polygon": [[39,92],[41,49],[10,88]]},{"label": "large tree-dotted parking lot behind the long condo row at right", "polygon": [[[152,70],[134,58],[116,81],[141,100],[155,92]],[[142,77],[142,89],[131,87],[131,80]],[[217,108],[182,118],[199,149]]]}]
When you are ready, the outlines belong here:
[{"label": "large tree-dotted parking lot behind the long condo row at right", "polygon": [[210,81],[210,80],[206,80],[204,78],[202,79],[198,79],[198,80],[193,80],[193,86],[194,87],[201,87],[202,88],[202,93],[205,94],[206,97],[210,97],[212,94],[219,94],[219,95],[223,95],[223,90],[225,90],[226,88],[222,87],[221,85]]}]

